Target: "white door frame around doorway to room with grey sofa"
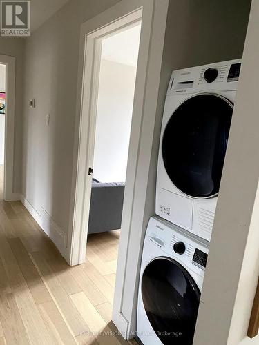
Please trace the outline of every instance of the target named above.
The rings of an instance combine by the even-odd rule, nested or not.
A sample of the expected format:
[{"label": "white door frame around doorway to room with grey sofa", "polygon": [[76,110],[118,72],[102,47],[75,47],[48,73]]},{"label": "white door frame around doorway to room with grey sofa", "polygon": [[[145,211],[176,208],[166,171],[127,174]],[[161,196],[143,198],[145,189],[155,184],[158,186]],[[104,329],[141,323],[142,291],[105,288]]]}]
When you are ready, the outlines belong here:
[{"label": "white door frame around doorway to room with grey sofa", "polygon": [[[140,49],[113,303],[113,322],[125,338],[133,337],[136,331],[136,296],[142,242],[146,221],[150,217],[149,210],[146,210],[146,198],[167,8],[168,0],[122,0],[81,26],[70,224],[65,255],[70,265],[84,262],[86,251],[87,218],[90,202],[88,167],[91,166],[89,165],[91,158],[86,157],[86,152],[89,152],[90,149],[89,132],[90,128],[93,128],[93,121],[91,122],[89,117],[90,110],[96,106],[93,101],[96,99],[93,89],[96,90],[97,87],[96,84],[93,85],[93,82],[96,83],[96,77],[93,78],[93,71],[96,68],[93,61],[95,61],[95,54],[98,52],[98,41],[93,37],[100,28],[106,34],[106,28],[111,23],[113,23],[115,30],[122,26],[123,21],[125,21],[125,25],[128,25],[127,17],[129,15],[128,18],[131,18],[132,22],[140,20],[140,11],[142,11]],[[134,16],[135,19],[133,19]],[[87,59],[84,61],[86,50],[90,54],[87,54]],[[82,92],[83,90],[84,92]],[[126,291],[126,288],[129,288],[128,282],[131,286],[129,291]]]}]

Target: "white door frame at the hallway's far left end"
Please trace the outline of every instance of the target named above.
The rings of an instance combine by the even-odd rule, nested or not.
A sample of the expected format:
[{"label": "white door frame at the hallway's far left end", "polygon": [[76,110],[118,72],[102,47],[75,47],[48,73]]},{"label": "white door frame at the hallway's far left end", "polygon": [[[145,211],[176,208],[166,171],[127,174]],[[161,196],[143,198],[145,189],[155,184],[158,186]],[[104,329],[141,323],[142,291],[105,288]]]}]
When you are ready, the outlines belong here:
[{"label": "white door frame at the hallway's far left end", "polygon": [[0,55],[0,63],[6,66],[6,123],[3,199],[19,200],[19,195],[13,193],[15,141],[15,57]]}]

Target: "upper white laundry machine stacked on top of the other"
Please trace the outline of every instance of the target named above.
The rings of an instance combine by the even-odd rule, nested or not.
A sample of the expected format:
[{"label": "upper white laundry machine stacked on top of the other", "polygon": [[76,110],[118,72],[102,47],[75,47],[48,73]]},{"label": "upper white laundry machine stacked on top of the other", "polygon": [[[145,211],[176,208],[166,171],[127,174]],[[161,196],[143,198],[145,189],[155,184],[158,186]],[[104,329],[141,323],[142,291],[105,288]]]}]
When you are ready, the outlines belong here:
[{"label": "upper white laundry machine stacked on top of the other", "polygon": [[241,60],[175,70],[160,138],[155,213],[210,241]]}]

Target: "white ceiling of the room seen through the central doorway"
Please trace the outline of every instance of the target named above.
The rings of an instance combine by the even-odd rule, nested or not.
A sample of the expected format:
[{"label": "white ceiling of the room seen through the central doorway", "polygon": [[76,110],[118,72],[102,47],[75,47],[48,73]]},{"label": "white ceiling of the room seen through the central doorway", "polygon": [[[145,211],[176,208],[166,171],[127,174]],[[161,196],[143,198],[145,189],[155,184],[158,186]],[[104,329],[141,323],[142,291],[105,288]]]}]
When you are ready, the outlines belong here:
[{"label": "white ceiling of the room seen through the central doorway", "polygon": [[114,34],[102,41],[102,59],[137,66],[141,25]]}]

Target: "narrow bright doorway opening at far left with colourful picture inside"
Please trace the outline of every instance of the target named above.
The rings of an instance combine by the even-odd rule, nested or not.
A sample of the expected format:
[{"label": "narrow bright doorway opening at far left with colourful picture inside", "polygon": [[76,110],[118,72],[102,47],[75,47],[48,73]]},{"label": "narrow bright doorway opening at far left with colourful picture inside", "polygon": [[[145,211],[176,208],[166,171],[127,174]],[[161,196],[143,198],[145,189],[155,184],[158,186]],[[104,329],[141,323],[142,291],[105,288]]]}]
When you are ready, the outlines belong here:
[{"label": "narrow bright doorway opening at far left with colourful picture inside", "polygon": [[6,65],[0,63],[0,199],[3,199],[6,131]]}]

